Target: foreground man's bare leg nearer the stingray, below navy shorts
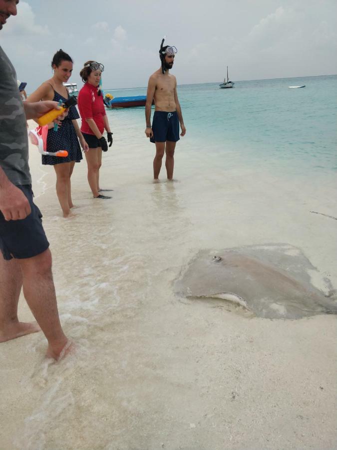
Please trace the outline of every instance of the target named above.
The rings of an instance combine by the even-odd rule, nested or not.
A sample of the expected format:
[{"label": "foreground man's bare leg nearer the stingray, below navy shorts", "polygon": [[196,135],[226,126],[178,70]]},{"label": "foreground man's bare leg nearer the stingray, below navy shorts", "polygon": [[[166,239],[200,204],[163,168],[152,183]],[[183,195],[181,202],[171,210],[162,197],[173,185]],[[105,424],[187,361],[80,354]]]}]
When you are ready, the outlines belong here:
[{"label": "foreground man's bare leg nearer the stingray, below navy shorts", "polygon": [[67,346],[58,316],[55,286],[51,273],[51,253],[18,259],[22,272],[23,294],[37,323],[48,340],[47,356],[58,359]]}]

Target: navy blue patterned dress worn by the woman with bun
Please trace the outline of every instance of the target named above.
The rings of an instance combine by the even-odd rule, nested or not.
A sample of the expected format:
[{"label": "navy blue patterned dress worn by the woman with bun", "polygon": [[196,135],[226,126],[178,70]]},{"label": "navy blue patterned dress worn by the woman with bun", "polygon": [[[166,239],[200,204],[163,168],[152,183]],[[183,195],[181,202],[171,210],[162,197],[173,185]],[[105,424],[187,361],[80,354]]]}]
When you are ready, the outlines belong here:
[{"label": "navy blue patterned dress worn by the woman with bun", "polygon": [[[53,100],[62,100],[64,102],[67,98],[54,90]],[[54,165],[70,161],[80,162],[83,159],[78,137],[74,125],[71,122],[71,120],[77,118],[79,118],[79,115],[76,107],[70,106],[68,115],[62,120],[62,125],[58,127],[58,130],[54,131],[53,128],[48,130],[47,151],[67,150],[68,156],[61,157],[42,154],[42,164]]]}]

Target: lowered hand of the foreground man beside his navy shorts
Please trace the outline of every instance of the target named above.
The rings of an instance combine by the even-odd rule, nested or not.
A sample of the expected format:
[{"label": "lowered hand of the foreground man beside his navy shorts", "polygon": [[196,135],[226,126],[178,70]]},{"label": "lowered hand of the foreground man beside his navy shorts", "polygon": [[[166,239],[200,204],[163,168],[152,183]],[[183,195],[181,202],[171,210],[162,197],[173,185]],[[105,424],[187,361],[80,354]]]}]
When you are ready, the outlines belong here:
[{"label": "lowered hand of the foreground man beside his navy shorts", "polygon": [[27,197],[10,181],[0,189],[0,211],[5,220],[23,219],[31,212]]}]

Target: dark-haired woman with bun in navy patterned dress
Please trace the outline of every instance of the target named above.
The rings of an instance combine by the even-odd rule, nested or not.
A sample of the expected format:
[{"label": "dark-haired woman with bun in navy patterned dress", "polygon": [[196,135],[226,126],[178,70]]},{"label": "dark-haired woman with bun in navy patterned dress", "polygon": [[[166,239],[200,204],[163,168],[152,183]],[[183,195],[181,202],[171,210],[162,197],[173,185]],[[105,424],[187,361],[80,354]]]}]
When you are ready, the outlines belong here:
[{"label": "dark-haired woman with bun in navy patterned dress", "polygon": [[[69,93],[63,83],[66,83],[71,76],[73,61],[71,57],[62,49],[58,50],[52,59],[51,67],[53,76],[44,81],[26,101],[39,100],[61,100],[64,102],[69,98]],[[73,217],[71,211],[74,206],[71,199],[70,177],[75,162],[82,159],[81,149],[78,140],[84,151],[88,150],[88,144],[78,127],[76,119],[79,118],[75,106],[71,106],[68,115],[59,122],[57,131],[54,131],[54,124],[48,125],[47,151],[67,150],[67,157],[42,155],[42,164],[53,165],[56,172],[56,193],[60,202],[63,217]]]}]

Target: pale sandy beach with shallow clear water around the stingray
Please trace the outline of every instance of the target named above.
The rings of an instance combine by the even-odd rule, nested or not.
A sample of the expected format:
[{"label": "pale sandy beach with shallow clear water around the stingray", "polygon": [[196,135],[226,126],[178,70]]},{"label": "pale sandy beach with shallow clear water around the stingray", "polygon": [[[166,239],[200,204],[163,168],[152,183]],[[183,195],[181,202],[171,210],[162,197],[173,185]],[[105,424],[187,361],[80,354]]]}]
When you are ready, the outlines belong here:
[{"label": "pale sandy beach with shallow clear water around the stingray", "polygon": [[[83,160],[70,220],[53,168],[30,148],[61,321],[76,352],[46,360],[42,333],[0,345],[0,448],[336,448],[335,315],[248,318],[173,289],[201,248],[271,242],[301,248],[336,287],[337,221],[310,212],[336,217],[333,175],[280,180],[263,168],[224,172],[216,160],[205,173],[187,133],[177,181],[165,181],[163,166],[153,184],[143,124],[116,114],[113,131],[101,169],[113,198],[92,199]],[[19,312],[31,320],[23,297]]]}]

